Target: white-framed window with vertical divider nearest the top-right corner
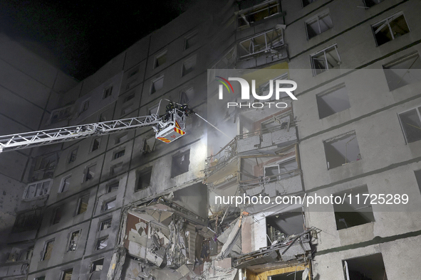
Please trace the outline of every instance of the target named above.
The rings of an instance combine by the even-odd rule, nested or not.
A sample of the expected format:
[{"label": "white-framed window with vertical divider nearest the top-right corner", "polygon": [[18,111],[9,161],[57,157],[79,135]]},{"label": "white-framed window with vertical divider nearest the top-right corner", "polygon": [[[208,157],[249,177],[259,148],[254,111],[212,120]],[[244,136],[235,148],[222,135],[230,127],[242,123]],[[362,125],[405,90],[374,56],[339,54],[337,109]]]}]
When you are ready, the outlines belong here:
[{"label": "white-framed window with vertical divider nearest the top-right corner", "polygon": [[407,25],[405,16],[402,12],[394,14],[379,23],[373,24],[373,33],[375,36],[375,42],[377,45],[383,45],[389,41],[395,40],[408,32],[410,28]]}]

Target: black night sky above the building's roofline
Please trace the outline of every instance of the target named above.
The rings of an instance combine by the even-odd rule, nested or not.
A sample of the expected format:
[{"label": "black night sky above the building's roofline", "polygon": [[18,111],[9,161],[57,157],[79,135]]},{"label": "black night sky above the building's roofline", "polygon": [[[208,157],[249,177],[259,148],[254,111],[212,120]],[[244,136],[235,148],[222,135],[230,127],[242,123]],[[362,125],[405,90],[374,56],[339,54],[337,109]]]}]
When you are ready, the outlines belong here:
[{"label": "black night sky above the building's roofline", "polygon": [[83,80],[196,0],[0,0],[0,31]]}]

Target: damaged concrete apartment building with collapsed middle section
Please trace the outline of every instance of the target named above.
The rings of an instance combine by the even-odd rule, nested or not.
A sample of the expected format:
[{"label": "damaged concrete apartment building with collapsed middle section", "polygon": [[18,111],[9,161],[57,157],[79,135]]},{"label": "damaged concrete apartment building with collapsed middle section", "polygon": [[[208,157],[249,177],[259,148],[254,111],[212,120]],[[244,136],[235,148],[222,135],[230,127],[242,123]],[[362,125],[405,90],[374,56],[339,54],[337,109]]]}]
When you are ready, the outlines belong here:
[{"label": "damaged concrete apartment building with collapsed middle section", "polygon": [[[417,279],[419,11],[198,1],[81,82],[2,38],[2,135],[163,116],[167,100],[200,117],[168,144],[142,126],[0,153],[0,279]],[[297,99],[251,107],[234,81],[219,99],[221,77],[261,96],[293,80]]]}]

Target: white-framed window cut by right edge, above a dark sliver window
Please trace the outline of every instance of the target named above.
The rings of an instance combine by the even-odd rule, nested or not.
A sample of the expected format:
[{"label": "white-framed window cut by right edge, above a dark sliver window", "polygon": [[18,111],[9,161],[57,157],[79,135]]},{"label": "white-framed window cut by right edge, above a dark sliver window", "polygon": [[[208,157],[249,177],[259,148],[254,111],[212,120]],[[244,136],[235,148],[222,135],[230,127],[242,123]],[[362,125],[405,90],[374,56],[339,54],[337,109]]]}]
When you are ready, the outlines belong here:
[{"label": "white-framed window cut by right edge, above a dark sliver window", "polygon": [[398,114],[407,144],[421,140],[421,107]]}]

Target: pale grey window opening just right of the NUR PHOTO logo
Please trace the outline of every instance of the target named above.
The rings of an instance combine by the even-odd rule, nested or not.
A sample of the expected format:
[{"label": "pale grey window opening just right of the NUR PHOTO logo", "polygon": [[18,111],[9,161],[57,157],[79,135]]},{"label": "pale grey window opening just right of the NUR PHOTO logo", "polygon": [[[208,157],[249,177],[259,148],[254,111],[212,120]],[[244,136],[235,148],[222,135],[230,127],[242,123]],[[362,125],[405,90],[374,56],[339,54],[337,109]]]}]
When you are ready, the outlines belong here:
[{"label": "pale grey window opening just right of the NUR PHOTO logo", "polygon": [[348,90],[346,90],[345,85],[339,85],[316,95],[316,100],[320,119],[350,108]]}]

